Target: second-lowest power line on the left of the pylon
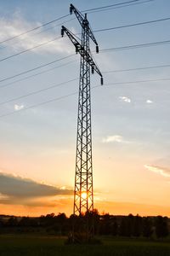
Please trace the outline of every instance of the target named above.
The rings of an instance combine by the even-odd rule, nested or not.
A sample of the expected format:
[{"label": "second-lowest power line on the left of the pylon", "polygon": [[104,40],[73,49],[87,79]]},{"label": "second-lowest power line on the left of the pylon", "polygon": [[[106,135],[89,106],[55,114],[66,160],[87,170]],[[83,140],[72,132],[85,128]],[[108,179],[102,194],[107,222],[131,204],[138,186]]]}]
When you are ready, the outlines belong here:
[{"label": "second-lowest power line on the left of the pylon", "polygon": [[[77,78],[78,79],[78,78]],[[9,103],[9,102],[14,102],[14,101],[17,101],[17,100],[20,100],[22,98],[26,98],[27,96],[32,96],[32,95],[36,95],[36,94],[39,94],[41,93],[42,91],[46,91],[46,90],[50,90],[50,89],[54,89],[56,87],[59,87],[60,85],[64,85],[64,84],[69,84],[73,81],[76,81],[77,79],[71,79],[71,80],[68,80],[66,82],[62,82],[62,83],[59,83],[59,84],[53,84],[53,85],[50,85],[48,86],[47,88],[43,88],[43,89],[40,89],[40,90],[34,90],[30,93],[27,93],[25,95],[22,95],[22,96],[18,96],[18,97],[15,97],[15,98],[12,98],[8,101],[4,101],[4,102],[0,102],[0,105],[3,105],[3,104],[6,104],[6,103]]]}]

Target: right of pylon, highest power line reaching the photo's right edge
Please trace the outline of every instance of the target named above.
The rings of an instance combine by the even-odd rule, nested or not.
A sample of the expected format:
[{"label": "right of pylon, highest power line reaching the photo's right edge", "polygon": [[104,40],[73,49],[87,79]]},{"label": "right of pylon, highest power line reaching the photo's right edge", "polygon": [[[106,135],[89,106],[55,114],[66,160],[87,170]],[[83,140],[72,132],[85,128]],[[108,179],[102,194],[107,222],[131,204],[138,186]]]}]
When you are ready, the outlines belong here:
[{"label": "right of pylon, highest power line reaching the photo's right edge", "polygon": [[111,30],[131,27],[131,26],[142,26],[142,25],[156,23],[156,22],[161,22],[161,21],[166,21],[166,20],[170,20],[170,17],[159,19],[159,20],[148,20],[148,21],[143,21],[143,22],[139,22],[139,23],[133,23],[133,24],[129,24],[129,25],[123,25],[123,26],[113,26],[113,27],[109,27],[109,28],[102,28],[102,29],[94,30],[94,32],[111,31]]}]

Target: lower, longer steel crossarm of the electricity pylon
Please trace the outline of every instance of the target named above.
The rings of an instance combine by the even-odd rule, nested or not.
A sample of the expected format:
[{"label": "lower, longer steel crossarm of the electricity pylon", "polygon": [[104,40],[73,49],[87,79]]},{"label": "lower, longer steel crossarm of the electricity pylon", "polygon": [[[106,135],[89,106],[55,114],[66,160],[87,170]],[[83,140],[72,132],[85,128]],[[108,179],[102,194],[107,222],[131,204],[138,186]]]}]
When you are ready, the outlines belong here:
[{"label": "lower, longer steel crossarm of the electricity pylon", "polygon": [[99,73],[99,76],[102,78],[102,74],[99,71],[99,67],[96,66],[93,57],[91,54],[82,47],[82,45],[77,41],[77,39],[73,36],[72,32],[70,32],[65,26],[61,27],[61,36],[64,36],[64,33],[71,39],[72,44],[74,44],[76,48],[76,52],[79,52],[80,55],[89,63],[89,65],[93,68],[96,73]]}]

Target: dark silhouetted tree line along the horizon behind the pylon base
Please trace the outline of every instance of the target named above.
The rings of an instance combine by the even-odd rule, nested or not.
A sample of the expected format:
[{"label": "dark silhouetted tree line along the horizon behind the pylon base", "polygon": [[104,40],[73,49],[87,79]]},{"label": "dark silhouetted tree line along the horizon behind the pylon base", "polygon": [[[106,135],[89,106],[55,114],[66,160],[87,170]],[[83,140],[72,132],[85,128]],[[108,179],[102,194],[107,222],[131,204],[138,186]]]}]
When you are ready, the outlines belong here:
[{"label": "dark silhouetted tree line along the horizon behind the pylon base", "polygon": [[[48,233],[51,235],[66,236],[72,229],[73,223],[78,223],[86,215],[80,217],[71,215],[66,217],[65,213],[47,214],[38,218],[32,217],[5,217],[0,216],[0,233]],[[170,235],[170,219],[167,217],[140,217],[114,216],[109,213],[99,214],[97,210],[88,216],[94,224],[96,236],[127,236],[164,238]]]}]

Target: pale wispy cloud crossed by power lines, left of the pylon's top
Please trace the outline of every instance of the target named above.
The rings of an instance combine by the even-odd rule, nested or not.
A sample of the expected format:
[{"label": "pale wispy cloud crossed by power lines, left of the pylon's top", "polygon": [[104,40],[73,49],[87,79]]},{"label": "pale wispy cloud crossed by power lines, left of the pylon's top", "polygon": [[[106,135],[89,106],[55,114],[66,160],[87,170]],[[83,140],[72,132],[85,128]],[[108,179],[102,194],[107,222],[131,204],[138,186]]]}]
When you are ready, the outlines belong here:
[{"label": "pale wispy cloud crossed by power lines, left of the pylon's top", "polygon": [[[31,30],[33,27],[41,26],[40,22],[28,22],[23,19],[20,13],[11,17],[10,20],[2,18],[0,20],[0,41],[3,41],[7,38],[12,38],[21,33]],[[53,40],[54,38],[59,38],[60,34],[56,32],[55,29],[42,32],[43,28],[40,28],[33,32],[28,32],[20,36],[20,38],[15,38],[12,41],[4,42],[3,46],[8,46],[8,49],[13,49],[15,52],[20,50],[30,49],[38,44],[45,44],[48,41]],[[59,38],[49,44],[45,44],[42,47],[33,49],[37,53],[64,53],[71,52],[70,44],[65,38]]]}]

